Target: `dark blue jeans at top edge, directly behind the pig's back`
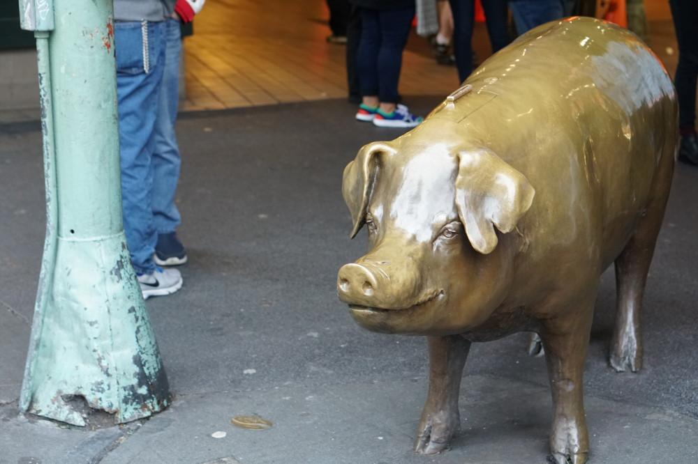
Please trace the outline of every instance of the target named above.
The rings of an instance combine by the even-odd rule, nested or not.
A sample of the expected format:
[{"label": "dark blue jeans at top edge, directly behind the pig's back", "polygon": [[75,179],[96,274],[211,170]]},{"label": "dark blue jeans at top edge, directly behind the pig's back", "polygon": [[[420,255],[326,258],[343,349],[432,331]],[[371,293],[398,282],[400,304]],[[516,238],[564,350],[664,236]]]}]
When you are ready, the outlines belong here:
[{"label": "dark blue jeans at top edge, directly behind the pig's back", "polygon": [[[449,0],[453,12],[453,52],[461,82],[473,72],[473,22],[475,22],[474,0]],[[509,45],[507,31],[506,0],[482,0],[482,8],[487,20],[487,33],[492,44],[492,52],[498,52]]]}]

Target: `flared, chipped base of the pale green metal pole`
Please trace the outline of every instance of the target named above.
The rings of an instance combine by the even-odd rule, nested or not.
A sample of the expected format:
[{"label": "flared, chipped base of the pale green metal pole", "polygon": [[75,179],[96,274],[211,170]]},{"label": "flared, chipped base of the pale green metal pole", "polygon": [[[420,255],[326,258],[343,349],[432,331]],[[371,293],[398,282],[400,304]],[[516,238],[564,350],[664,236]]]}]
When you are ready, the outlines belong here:
[{"label": "flared, chipped base of the pale green metal pole", "polygon": [[84,426],[76,398],[112,414],[116,424],[169,405],[168,378],[123,232],[59,237],[50,300],[33,324],[24,412]]}]

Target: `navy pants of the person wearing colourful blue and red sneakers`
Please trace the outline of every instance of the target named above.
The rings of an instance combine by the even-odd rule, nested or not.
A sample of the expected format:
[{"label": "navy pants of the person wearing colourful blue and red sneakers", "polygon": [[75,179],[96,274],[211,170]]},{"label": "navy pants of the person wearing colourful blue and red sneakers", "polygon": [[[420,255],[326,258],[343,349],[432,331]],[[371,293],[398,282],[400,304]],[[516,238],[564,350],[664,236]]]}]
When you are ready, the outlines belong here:
[{"label": "navy pants of the person wearing colourful blue and red sneakers", "polygon": [[358,70],[361,93],[397,103],[402,52],[415,16],[415,7],[400,10],[359,8],[361,43]]}]

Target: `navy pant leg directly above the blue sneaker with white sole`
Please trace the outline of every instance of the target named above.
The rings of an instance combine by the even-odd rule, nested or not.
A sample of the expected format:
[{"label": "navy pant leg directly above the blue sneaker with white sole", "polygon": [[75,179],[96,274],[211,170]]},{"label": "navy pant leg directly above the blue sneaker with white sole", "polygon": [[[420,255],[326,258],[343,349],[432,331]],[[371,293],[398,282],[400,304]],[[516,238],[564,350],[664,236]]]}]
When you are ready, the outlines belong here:
[{"label": "navy pant leg directly above the blue sneaker with white sole", "polygon": [[415,7],[380,11],[380,49],[378,50],[378,100],[397,103],[402,52],[407,44]]}]

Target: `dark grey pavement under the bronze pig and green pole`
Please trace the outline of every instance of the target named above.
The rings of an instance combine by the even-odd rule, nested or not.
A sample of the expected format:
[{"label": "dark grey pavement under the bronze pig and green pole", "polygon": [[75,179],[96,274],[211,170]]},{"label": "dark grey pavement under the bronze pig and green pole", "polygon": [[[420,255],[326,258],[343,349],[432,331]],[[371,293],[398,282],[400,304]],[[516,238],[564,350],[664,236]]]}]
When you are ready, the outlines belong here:
[{"label": "dark grey pavement under the bronze pig and green pole", "polygon": [[[422,114],[438,99],[408,98]],[[526,337],[476,344],[452,450],[414,456],[426,343],[361,330],[336,298],[348,240],[341,171],[399,133],[341,100],[187,114],[178,202],[184,288],[147,302],[175,394],[170,410],[83,431],[17,417],[43,245],[36,123],[0,123],[0,463],[542,463],[551,417],[544,361]],[[607,366],[606,274],[586,366],[591,463],[698,462],[698,169],[679,165],[645,300],[645,368]],[[274,426],[236,428],[236,415]],[[225,432],[224,438],[212,433]],[[219,460],[219,461],[216,461]]]}]

